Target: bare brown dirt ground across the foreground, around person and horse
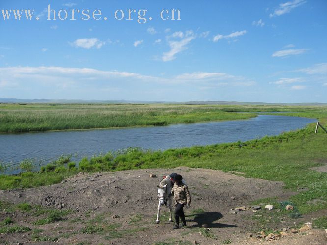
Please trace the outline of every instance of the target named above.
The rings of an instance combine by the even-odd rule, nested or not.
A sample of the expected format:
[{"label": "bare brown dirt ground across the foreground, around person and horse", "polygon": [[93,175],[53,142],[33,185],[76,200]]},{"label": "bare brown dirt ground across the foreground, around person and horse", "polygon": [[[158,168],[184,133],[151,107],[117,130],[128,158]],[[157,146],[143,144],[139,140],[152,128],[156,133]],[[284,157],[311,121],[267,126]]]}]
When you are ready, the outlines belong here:
[{"label": "bare brown dirt ground across the foreground, around person and horse", "polygon": [[[168,209],[164,207],[160,224],[155,224],[158,199],[157,184],[162,176],[177,172],[191,192],[192,203],[185,209],[188,227],[172,230]],[[150,178],[150,173],[157,178]],[[287,200],[294,193],[283,183],[251,179],[240,174],[208,169],[151,169],[95,174],[80,173],[62,183],[47,187],[0,191],[1,201],[27,202],[49,209],[71,210],[62,221],[36,225],[46,214],[33,215],[16,209],[1,210],[0,221],[11,217],[16,224],[29,227],[25,233],[0,234],[0,243],[8,244],[327,244],[324,230],[312,229],[293,234],[296,224],[312,222],[327,210],[300,219],[271,216],[278,210],[256,213],[252,209],[233,213],[232,208],[251,206],[258,199],[277,197]],[[271,212],[271,213],[269,213]],[[259,222],[256,218],[262,218]],[[296,224],[295,224],[296,223]],[[208,228],[202,228],[202,225]],[[93,229],[92,229],[93,228]],[[95,228],[95,229],[94,229]],[[278,240],[256,238],[269,228]],[[267,235],[267,234],[266,234]],[[54,240],[54,241],[52,241]]]}]

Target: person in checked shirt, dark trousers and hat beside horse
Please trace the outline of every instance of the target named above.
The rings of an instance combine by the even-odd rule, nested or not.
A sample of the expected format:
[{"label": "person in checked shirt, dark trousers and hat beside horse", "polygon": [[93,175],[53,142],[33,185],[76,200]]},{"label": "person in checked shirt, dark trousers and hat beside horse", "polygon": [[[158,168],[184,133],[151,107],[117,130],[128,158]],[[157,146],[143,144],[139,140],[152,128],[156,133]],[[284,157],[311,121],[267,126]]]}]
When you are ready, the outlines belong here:
[{"label": "person in checked shirt, dark trousers and hat beside horse", "polygon": [[183,177],[179,174],[176,174],[174,177],[174,186],[171,190],[171,195],[174,195],[175,199],[175,225],[173,229],[178,229],[179,226],[179,221],[182,221],[181,227],[186,226],[186,221],[185,221],[185,215],[184,215],[184,206],[186,205],[187,207],[190,206],[191,204],[191,195],[188,189],[188,186],[185,185],[183,182]]}]

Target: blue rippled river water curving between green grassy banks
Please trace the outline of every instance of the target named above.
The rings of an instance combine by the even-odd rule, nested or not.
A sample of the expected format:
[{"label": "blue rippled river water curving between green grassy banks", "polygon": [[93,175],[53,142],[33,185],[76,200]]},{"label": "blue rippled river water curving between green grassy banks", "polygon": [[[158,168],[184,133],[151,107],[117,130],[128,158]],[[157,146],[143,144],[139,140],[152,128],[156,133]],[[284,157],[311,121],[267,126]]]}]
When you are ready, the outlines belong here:
[{"label": "blue rippled river water curving between green grassy banks", "polygon": [[280,115],[258,115],[241,121],[0,134],[0,161],[17,165],[23,159],[32,158],[47,164],[61,154],[72,154],[72,160],[78,161],[84,156],[89,157],[128,147],[164,150],[247,141],[304,128],[312,122],[315,120]]}]

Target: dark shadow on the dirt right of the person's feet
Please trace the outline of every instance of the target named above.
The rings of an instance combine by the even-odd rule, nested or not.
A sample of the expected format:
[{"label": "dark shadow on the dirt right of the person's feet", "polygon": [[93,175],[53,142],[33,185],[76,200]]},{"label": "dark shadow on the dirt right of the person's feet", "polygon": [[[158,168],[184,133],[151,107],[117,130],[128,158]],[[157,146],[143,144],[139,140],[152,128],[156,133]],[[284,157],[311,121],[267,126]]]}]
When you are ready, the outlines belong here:
[{"label": "dark shadow on the dirt right of the person's feet", "polygon": [[186,221],[191,221],[196,223],[192,227],[202,227],[202,224],[208,225],[208,228],[237,227],[236,225],[232,225],[232,224],[221,224],[217,222],[214,223],[218,219],[222,218],[222,214],[219,212],[201,212],[193,215],[186,215],[185,218]]}]

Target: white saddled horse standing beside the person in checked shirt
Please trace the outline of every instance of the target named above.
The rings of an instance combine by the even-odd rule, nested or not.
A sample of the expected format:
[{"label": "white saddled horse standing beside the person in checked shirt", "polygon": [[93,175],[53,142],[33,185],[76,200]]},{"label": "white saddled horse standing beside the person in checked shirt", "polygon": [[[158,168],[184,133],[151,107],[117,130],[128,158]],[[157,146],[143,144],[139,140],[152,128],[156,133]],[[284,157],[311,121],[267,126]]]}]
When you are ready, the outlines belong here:
[{"label": "white saddled horse standing beside the person in checked shirt", "polygon": [[158,187],[158,213],[157,213],[157,220],[156,224],[159,224],[159,215],[160,215],[160,209],[162,206],[166,205],[169,208],[169,222],[172,222],[171,219],[171,204],[172,204],[172,198],[169,196],[171,189],[173,187],[173,183],[170,180],[170,176],[167,175],[165,178],[160,181]]}]

